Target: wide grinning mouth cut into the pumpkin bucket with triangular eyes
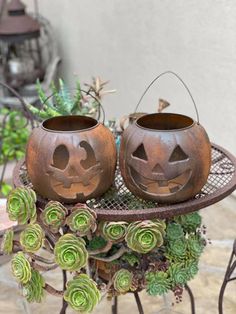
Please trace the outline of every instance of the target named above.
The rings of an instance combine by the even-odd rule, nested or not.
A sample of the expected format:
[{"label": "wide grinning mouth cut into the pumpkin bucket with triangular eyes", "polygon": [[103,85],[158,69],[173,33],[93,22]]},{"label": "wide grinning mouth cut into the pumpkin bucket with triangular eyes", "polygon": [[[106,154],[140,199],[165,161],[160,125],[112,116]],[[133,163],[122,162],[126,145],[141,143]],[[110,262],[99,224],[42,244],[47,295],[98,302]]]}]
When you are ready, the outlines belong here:
[{"label": "wide grinning mouth cut into the pumpkin bucket with triangular eyes", "polygon": [[189,181],[192,171],[188,169],[170,180],[165,178],[153,180],[142,176],[130,166],[130,174],[135,184],[143,191],[148,194],[163,196],[180,191]]}]

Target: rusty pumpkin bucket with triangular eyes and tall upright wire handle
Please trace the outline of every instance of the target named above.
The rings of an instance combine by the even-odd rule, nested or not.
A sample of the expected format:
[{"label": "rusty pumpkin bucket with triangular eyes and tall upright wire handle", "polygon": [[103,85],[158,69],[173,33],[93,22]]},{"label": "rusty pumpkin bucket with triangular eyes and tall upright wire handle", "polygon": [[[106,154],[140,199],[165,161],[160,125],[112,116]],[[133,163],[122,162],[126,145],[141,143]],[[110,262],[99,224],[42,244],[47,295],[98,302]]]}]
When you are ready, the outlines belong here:
[{"label": "rusty pumpkin bucket with triangular eyes and tall upright wire handle", "polygon": [[204,128],[188,116],[148,114],[125,129],[119,163],[133,194],[177,203],[194,197],[206,183],[211,145]]}]

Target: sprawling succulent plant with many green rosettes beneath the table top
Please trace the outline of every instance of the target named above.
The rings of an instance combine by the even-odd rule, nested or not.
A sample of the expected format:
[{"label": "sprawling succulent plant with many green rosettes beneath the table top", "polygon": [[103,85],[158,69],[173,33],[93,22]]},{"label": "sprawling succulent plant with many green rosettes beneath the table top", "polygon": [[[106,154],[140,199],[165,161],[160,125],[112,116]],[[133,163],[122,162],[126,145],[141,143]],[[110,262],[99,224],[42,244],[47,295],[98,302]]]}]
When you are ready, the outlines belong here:
[{"label": "sprawling succulent plant with many green rosettes beneath the table top", "polygon": [[[206,240],[197,212],[166,220],[98,221],[85,204],[50,201],[42,209],[36,199],[28,187],[11,191],[9,218],[24,229],[19,241],[8,230],[1,245],[5,254],[14,253],[12,273],[29,302],[41,302],[51,293],[63,298],[61,313],[67,305],[89,313],[104,295],[143,289],[152,296],[173,291],[179,300],[198,272]],[[48,258],[40,249],[48,251]],[[60,291],[42,274],[57,267],[64,274]],[[68,273],[72,279],[67,279]]]}]

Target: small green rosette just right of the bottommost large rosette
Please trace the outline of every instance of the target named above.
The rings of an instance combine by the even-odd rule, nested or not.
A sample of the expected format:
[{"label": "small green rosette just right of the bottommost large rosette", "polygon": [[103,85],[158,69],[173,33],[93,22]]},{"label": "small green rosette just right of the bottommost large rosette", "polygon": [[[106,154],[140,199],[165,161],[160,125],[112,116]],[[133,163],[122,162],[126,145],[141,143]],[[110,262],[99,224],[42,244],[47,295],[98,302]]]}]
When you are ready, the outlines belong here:
[{"label": "small green rosette just right of the bottommost large rosette", "polygon": [[126,293],[132,288],[133,274],[127,269],[118,270],[113,277],[113,287],[119,293]]}]

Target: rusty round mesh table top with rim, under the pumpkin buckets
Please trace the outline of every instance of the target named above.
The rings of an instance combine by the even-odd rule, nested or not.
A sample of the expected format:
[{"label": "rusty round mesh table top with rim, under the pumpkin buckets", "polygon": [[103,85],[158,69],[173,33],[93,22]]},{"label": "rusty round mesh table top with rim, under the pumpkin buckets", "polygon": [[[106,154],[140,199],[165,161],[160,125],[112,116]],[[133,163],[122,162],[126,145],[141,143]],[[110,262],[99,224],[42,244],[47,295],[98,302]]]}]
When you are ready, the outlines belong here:
[{"label": "rusty round mesh table top with rim, under the pumpkin buckets", "polygon": [[[14,170],[14,185],[32,187],[25,162]],[[212,166],[208,180],[194,198],[177,204],[158,204],[134,196],[125,186],[117,167],[113,186],[101,197],[87,201],[98,219],[107,221],[137,221],[153,218],[171,218],[214,204],[236,189],[236,159],[222,147],[212,144]],[[39,197],[41,203],[47,200]]]}]

